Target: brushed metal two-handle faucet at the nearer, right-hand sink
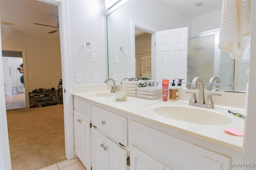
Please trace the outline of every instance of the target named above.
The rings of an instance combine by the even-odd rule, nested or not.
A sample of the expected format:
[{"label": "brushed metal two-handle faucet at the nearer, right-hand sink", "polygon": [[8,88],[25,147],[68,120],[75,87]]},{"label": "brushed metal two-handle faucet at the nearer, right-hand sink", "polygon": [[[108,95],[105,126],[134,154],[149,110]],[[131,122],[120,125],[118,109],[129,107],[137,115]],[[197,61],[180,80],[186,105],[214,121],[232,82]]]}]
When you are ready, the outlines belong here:
[{"label": "brushed metal two-handle faucet at the nearer, right-hand sink", "polygon": [[198,106],[198,107],[205,107],[209,109],[213,109],[214,105],[212,102],[212,96],[221,96],[221,94],[208,94],[206,102],[204,101],[204,83],[202,78],[200,77],[195,77],[192,80],[191,83],[191,88],[196,88],[196,83],[199,82],[199,95],[198,95],[198,100],[196,100],[196,93],[195,92],[185,92],[185,93],[191,93],[192,98],[190,99],[190,106]]}]

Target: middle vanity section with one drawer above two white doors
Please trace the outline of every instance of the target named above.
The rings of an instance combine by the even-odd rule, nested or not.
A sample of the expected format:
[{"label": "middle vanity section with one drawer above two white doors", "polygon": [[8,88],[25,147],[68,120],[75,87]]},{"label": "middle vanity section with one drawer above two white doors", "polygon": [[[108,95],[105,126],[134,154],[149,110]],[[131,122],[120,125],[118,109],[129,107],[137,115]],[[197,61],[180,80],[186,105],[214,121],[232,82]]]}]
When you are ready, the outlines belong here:
[{"label": "middle vanity section with one drawer above two white doors", "polygon": [[92,169],[128,170],[127,118],[92,105]]}]

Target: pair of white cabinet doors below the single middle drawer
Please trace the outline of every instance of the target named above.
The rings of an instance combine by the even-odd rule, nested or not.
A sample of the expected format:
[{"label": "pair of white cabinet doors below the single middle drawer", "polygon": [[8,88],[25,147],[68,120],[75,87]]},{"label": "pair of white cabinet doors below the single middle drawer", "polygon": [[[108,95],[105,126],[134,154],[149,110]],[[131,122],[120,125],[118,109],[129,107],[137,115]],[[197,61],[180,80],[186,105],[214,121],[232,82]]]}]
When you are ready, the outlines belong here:
[{"label": "pair of white cabinet doors below the single middle drawer", "polygon": [[92,127],[92,169],[128,170],[128,151]]}]

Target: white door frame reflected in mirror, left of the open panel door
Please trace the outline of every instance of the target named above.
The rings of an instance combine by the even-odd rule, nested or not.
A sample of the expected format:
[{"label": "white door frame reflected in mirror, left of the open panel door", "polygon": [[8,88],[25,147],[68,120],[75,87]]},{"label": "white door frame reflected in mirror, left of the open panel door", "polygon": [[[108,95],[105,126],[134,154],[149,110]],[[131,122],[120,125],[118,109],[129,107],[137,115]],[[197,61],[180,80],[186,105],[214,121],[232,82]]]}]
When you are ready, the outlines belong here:
[{"label": "white door frame reflected in mirror, left of the open panel door", "polygon": [[152,27],[150,25],[146,25],[144,23],[140,23],[138,21],[131,20],[131,49],[132,49],[132,56],[131,56],[131,73],[132,77],[136,77],[135,75],[135,28],[141,29],[146,33],[150,33],[151,35],[151,74],[152,80],[156,78],[156,31],[158,28]]}]

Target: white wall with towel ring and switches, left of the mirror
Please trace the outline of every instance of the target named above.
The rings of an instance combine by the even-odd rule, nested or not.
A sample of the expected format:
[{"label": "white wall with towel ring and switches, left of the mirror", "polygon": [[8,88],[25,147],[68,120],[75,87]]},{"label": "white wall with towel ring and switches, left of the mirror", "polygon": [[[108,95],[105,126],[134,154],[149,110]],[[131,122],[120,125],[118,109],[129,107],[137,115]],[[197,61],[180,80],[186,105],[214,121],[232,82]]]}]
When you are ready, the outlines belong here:
[{"label": "white wall with towel ring and switches, left of the mirror", "polygon": [[[106,79],[105,7],[101,0],[72,0],[68,4],[70,29],[70,57],[72,58],[72,85],[102,84]],[[95,45],[94,51],[84,47],[85,41]],[[88,47],[91,48],[91,47]],[[91,61],[96,54],[97,62]],[[76,82],[75,74],[82,74],[82,82]],[[100,81],[94,81],[99,74]]]}]

